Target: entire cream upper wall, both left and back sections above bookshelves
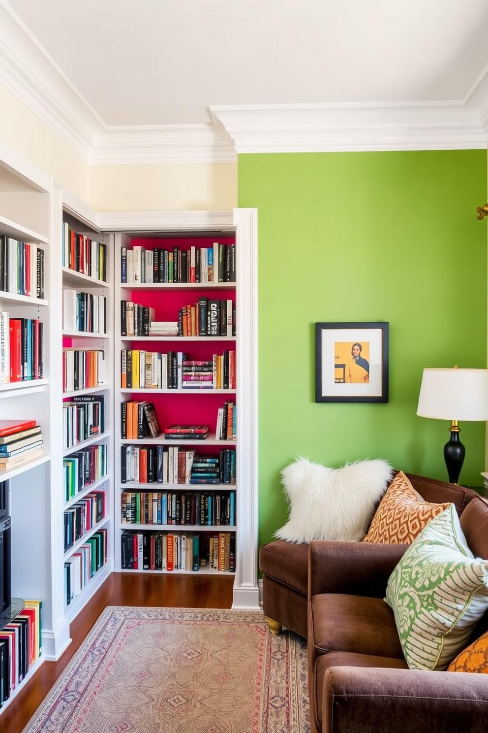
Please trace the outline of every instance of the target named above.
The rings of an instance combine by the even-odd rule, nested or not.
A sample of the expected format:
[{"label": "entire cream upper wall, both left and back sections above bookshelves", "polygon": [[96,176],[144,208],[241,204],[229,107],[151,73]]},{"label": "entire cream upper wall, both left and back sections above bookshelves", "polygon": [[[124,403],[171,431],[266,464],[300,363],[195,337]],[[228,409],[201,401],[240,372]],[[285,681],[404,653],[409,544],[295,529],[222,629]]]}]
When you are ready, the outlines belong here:
[{"label": "entire cream upper wall, both left and back sections above bookshelves", "polygon": [[95,211],[229,211],[236,163],[90,166],[0,84],[0,139]]}]

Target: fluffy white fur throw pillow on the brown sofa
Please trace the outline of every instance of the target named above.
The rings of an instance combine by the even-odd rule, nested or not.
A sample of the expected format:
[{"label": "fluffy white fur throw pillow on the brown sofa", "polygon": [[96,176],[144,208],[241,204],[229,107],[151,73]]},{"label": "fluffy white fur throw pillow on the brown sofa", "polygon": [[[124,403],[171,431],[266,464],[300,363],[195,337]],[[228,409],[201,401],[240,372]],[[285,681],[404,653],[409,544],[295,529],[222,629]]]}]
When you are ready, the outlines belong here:
[{"label": "fluffy white fur throw pillow on the brown sofa", "polygon": [[275,537],[289,542],[363,539],[393,473],[380,459],[326,468],[299,458],[281,472],[290,518]]}]

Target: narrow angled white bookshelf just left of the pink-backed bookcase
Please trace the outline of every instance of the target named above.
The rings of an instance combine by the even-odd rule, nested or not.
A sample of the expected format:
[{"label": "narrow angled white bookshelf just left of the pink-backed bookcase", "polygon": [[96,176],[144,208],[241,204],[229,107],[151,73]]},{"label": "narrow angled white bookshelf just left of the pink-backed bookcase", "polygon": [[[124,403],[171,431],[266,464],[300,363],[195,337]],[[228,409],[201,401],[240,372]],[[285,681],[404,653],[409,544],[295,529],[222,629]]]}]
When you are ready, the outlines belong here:
[{"label": "narrow angled white bookshelf just left of the pink-backed bookcase", "polygon": [[[71,204],[71,202],[70,202]],[[94,222],[64,207],[62,488],[64,615],[113,571],[113,253]]]}]

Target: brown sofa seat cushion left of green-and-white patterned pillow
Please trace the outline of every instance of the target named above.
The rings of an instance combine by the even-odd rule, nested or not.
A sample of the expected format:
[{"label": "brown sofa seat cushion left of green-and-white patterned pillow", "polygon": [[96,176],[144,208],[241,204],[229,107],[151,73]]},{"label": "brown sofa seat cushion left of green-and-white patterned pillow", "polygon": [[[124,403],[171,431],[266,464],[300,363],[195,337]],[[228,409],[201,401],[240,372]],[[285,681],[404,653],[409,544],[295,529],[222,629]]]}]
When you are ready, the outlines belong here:
[{"label": "brown sofa seat cushion left of green-and-white patterned pillow", "polygon": [[403,659],[391,608],[382,598],[323,593],[309,605],[308,654],[354,652]]}]

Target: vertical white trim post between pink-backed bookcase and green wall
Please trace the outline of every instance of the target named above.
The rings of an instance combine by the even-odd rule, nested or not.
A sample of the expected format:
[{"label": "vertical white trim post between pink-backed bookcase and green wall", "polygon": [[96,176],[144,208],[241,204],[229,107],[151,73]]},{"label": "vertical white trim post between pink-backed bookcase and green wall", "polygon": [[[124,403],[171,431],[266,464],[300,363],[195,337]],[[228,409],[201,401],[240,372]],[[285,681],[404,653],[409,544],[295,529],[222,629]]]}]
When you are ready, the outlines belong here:
[{"label": "vertical white trim post between pink-backed bookcase and green wall", "polygon": [[258,210],[236,226],[237,476],[233,608],[258,608]]}]

